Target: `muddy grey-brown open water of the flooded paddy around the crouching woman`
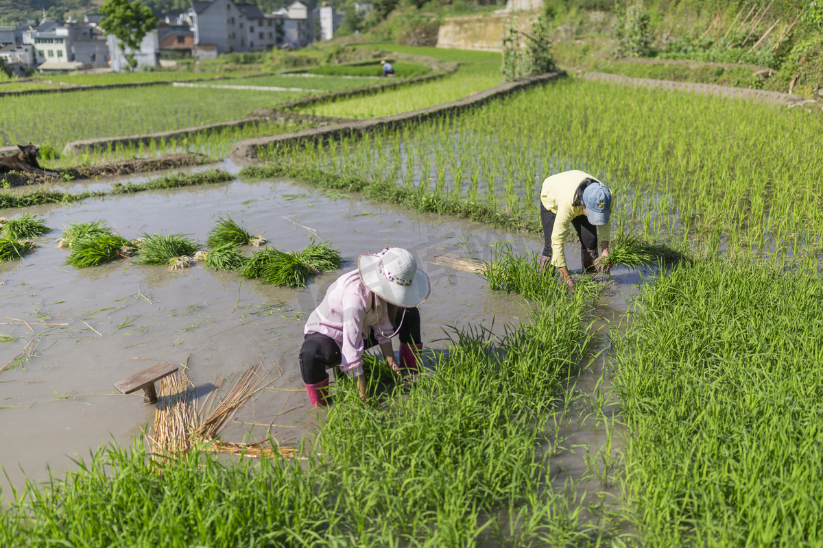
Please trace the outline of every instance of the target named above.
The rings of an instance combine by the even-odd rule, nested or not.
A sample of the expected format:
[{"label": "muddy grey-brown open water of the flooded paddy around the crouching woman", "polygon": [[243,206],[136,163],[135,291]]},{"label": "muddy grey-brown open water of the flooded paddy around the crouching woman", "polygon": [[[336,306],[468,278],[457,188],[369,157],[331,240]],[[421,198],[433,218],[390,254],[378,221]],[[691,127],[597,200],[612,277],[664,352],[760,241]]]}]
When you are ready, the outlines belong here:
[{"label": "muddy grey-brown open water of the flooded paddy around the crouching woman", "polygon": [[[101,190],[112,181],[84,186]],[[86,455],[109,440],[128,444],[151,423],[154,408],[140,395],[116,393],[112,385],[161,360],[188,362],[188,376],[203,393],[217,379],[261,361],[271,384],[238,412],[223,438],[272,435],[295,443],[314,425],[296,361],[305,318],[337,275],[355,267],[360,253],[391,245],[416,254],[432,282],[432,297],[421,309],[425,343],[440,348],[444,343],[435,339],[443,337],[443,326],[493,325],[500,332],[505,323],[528,316],[529,307],[518,297],[489,291],[477,274],[438,265],[439,256],[487,259],[503,241],[517,249],[539,247],[532,238],[479,223],[413,214],[284,181],[235,181],[4,214],[24,211],[44,215],[55,230],[40,238],[40,248],[26,260],[0,265],[0,334],[13,339],[0,341],[0,367],[10,364],[0,372],[0,464],[17,487],[24,474],[47,477],[47,464],[60,471],[72,455]],[[67,251],[55,245],[65,223],[93,219],[108,220],[126,237],[163,231],[204,242],[216,217],[226,214],[250,230],[265,230],[270,244],[284,250],[302,249],[316,234],[331,241],[346,264],[297,290],[201,266],[170,272],[121,260],[74,269],[63,265]],[[573,251],[570,261],[579,261]],[[625,309],[622,293],[637,282],[620,271],[615,281],[602,315]],[[577,388],[588,390],[586,383],[599,377],[597,367],[589,368]],[[565,429],[576,436],[575,444],[602,444],[602,433],[590,424]],[[581,461],[574,448],[559,454],[553,460],[555,481],[579,477]]]}]

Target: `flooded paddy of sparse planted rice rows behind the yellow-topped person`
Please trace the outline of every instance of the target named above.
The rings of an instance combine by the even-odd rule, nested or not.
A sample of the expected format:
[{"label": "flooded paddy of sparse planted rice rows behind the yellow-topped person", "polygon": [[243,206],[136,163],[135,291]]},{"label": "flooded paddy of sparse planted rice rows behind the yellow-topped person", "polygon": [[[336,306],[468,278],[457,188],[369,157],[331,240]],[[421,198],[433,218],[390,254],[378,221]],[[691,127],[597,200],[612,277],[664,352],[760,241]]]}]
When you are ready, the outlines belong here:
[{"label": "flooded paddy of sparse planted rice rows behind the yellow-topped person", "polygon": [[818,113],[745,100],[559,81],[472,113],[276,155],[528,219],[545,177],[580,168],[616,190],[627,230],[799,260],[823,249],[823,213],[797,203],[819,195],[821,127]]}]

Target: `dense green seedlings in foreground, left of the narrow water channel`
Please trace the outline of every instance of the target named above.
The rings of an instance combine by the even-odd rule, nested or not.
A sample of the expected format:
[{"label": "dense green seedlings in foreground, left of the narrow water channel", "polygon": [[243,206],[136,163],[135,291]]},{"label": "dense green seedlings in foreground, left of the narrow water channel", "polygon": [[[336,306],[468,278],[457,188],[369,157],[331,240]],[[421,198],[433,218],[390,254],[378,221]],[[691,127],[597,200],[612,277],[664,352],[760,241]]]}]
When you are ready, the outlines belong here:
[{"label": "dense green seedlings in foreground, left of the narrow water channel", "polygon": [[454,331],[435,374],[370,405],[338,385],[300,461],[164,463],[139,442],[109,446],[65,481],[16,493],[0,546],[579,546],[607,535],[545,481],[541,448],[565,444],[554,425],[593,298],[551,291],[500,340]]}]

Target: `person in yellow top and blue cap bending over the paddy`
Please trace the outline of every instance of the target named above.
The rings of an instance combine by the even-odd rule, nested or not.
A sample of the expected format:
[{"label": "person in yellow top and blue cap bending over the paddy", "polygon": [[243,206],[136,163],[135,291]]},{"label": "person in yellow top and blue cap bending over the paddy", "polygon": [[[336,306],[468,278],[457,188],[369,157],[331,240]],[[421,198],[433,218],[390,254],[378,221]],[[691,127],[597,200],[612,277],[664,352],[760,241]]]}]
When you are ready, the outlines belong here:
[{"label": "person in yellow top and blue cap bending over the paddy", "polygon": [[584,272],[590,272],[598,255],[605,257],[609,254],[610,214],[611,190],[588,173],[565,171],[543,181],[540,220],[546,246],[540,256],[541,271],[549,265],[555,267],[560,270],[566,285],[574,288],[563,251],[570,228],[574,227],[580,240]]}]

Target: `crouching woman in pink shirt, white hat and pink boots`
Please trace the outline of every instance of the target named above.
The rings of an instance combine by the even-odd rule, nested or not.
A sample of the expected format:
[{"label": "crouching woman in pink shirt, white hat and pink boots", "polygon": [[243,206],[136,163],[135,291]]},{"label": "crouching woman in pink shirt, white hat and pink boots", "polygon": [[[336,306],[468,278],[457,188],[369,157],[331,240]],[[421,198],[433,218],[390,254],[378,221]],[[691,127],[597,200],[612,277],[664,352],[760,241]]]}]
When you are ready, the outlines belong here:
[{"label": "crouching woman in pink shirt, white hat and pink boots", "polygon": [[[419,371],[423,348],[420,306],[429,297],[429,277],[417,269],[409,251],[387,247],[361,255],[357,269],[343,274],[309,315],[300,348],[300,375],[314,406],[328,402],[327,369],[340,366],[357,379],[365,399],[363,352],[380,345],[386,362],[400,374]],[[394,359],[392,337],[400,337],[400,364]]]}]

